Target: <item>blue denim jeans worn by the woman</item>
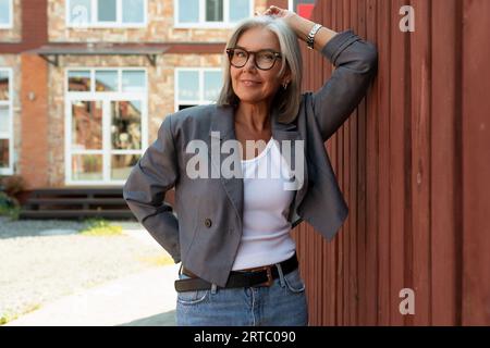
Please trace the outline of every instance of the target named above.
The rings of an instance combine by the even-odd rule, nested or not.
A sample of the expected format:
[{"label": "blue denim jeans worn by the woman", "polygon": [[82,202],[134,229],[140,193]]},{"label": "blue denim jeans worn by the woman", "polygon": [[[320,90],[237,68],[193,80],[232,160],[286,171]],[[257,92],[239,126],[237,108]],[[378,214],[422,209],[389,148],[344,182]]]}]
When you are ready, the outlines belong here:
[{"label": "blue denim jeans worn by the woman", "polygon": [[[280,268],[280,265],[279,265]],[[186,278],[180,274],[179,277]],[[270,287],[217,288],[177,294],[179,326],[306,326],[305,284],[295,270]]]}]

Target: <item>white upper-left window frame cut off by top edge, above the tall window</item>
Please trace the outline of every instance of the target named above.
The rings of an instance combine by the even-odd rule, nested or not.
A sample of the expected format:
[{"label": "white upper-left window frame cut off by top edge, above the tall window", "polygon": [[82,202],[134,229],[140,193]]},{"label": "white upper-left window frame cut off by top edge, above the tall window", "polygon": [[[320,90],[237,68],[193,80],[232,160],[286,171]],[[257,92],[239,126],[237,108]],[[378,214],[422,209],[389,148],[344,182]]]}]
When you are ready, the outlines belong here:
[{"label": "white upper-left window frame cut off by top edge, above the tall window", "polygon": [[[124,23],[122,20],[122,0],[117,0],[117,18],[115,22],[98,22],[97,1],[90,0],[91,15],[89,23],[77,25],[70,21],[70,1],[65,0],[65,25],[69,28],[145,28],[148,26],[148,0],[143,0],[143,23]],[[103,0],[101,0],[103,1]]]}]

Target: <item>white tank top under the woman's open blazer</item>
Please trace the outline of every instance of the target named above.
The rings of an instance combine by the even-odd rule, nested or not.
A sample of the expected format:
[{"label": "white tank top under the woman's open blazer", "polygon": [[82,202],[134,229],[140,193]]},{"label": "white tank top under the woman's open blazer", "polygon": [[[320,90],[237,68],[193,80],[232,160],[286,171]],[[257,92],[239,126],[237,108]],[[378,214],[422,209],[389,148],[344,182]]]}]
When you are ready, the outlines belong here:
[{"label": "white tank top under the woman's open blazer", "polygon": [[234,271],[278,263],[296,250],[287,221],[294,190],[284,189],[291,171],[278,146],[271,138],[259,156],[242,161],[243,235]]}]

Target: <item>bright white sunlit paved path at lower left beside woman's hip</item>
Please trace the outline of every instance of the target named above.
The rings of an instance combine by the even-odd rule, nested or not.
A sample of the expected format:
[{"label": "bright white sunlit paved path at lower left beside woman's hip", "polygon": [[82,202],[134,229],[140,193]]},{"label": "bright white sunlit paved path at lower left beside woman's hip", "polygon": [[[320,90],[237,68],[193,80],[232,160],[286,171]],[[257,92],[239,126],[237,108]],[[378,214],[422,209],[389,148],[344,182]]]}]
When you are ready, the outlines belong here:
[{"label": "bright white sunlit paved path at lower left beside woman's hip", "polygon": [[5,326],[175,325],[177,265],[134,274],[48,303]]}]

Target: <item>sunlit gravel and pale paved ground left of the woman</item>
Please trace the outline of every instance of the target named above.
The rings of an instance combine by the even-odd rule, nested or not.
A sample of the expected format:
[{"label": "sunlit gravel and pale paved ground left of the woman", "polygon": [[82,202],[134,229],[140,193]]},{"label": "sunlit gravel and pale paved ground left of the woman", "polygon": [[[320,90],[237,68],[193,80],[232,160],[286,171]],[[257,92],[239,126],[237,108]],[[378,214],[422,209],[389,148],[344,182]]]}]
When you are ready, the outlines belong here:
[{"label": "sunlit gravel and pale paved ground left of the woman", "polygon": [[[88,249],[85,248],[85,250],[83,249],[85,244],[82,244],[81,240],[78,240],[81,237],[73,234],[76,231],[61,233],[61,229],[57,229],[57,233],[53,233],[54,229],[52,228],[65,228],[66,226],[64,223],[61,223],[61,225],[59,222],[48,223],[51,228],[48,234],[49,237],[44,236],[41,233],[42,231],[39,232],[46,227],[46,223],[40,226],[30,226],[30,224],[33,223],[22,222],[12,224],[12,226],[3,226],[5,227],[3,228],[5,231],[0,228],[0,246],[2,246],[0,249],[2,249],[2,251],[7,252],[10,250],[11,252],[19,252],[22,258],[21,261],[28,257],[33,257],[33,254],[35,256],[36,252],[39,253],[36,257],[37,263],[34,262],[33,264],[27,264],[29,270],[27,274],[21,272],[22,269],[17,270],[14,272],[16,278],[12,278],[10,282],[9,278],[3,279],[7,282],[7,285],[12,285],[11,282],[15,279],[19,283],[19,279],[21,278],[25,281],[24,285],[32,289],[34,295],[37,295],[36,293],[41,291],[41,289],[45,291],[50,290],[49,287],[46,288],[46,281],[48,281],[48,284],[53,284],[56,289],[63,285],[63,282],[73,284],[76,278],[72,279],[70,277],[71,272],[75,272],[76,274],[81,273],[81,276],[83,275],[87,278],[93,278],[97,275],[97,272],[107,271],[107,274],[105,275],[108,278],[96,286],[78,286],[77,290],[69,293],[73,295],[65,295],[64,297],[53,296],[51,300],[42,302],[38,310],[22,315],[19,319],[9,322],[5,326],[175,325],[176,293],[173,287],[173,282],[176,278],[179,265],[145,266],[144,263],[135,258],[133,254],[135,253],[133,252],[134,250],[142,252],[145,256],[154,256],[155,252],[158,256],[162,254],[161,247],[142,228],[142,226],[135,223],[118,223],[123,226],[124,235],[127,236],[128,239],[124,239],[124,237],[119,239],[107,239],[105,237],[95,237],[95,239],[89,238],[91,244],[87,247]],[[23,233],[23,226],[25,227],[25,233]],[[74,226],[73,228],[77,226]],[[15,234],[8,235],[7,233],[9,231],[15,231]],[[58,232],[60,236],[57,236]],[[52,236],[53,234],[54,236]],[[57,246],[60,243],[58,239],[63,238],[72,238],[73,240],[69,240],[71,241],[69,246],[72,247],[66,247],[63,244],[63,248],[54,248],[53,250],[53,247],[48,244],[50,252],[46,251],[46,240],[52,239],[53,245]],[[120,240],[119,244],[121,244],[121,246],[117,240]],[[23,248],[15,251],[16,249],[13,248],[15,244],[21,244]],[[26,246],[30,246],[32,244],[34,244],[34,249],[27,252]],[[82,249],[85,250],[85,252],[82,252]],[[96,258],[99,253],[96,253],[96,257],[94,257],[93,249],[97,249],[99,253],[102,253],[103,258]],[[117,259],[112,260],[113,262],[109,262],[109,256],[114,253],[117,254]],[[51,256],[57,257],[54,260],[57,262],[49,263],[49,260],[47,261],[47,258]],[[72,262],[70,262],[70,260],[72,260]],[[95,263],[95,265],[93,265],[93,263]],[[38,271],[37,273],[40,272],[39,270],[41,268],[39,264],[52,264],[52,268],[49,269],[51,272],[41,272],[39,279],[36,281],[36,278],[33,277],[33,274],[36,273],[34,272],[36,270]],[[137,266],[137,264],[139,264],[139,266]],[[7,265],[2,264],[1,266]],[[109,272],[113,266],[115,266],[117,270],[120,270],[120,272]],[[10,270],[11,268],[9,266],[7,269]],[[5,269],[3,271],[5,271]],[[54,276],[54,278],[51,279],[50,276]],[[105,277],[101,277],[101,279]],[[2,283],[0,282],[0,284]],[[3,284],[4,289],[8,288],[5,284]],[[35,286],[35,284],[37,284],[37,286]],[[16,293],[21,290],[22,287],[19,288]],[[5,294],[3,293],[0,291],[0,297],[8,296],[7,299],[9,299],[13,296],[9,291]],[[34,296],[33,294],[28,293],[27,295]]]}]

